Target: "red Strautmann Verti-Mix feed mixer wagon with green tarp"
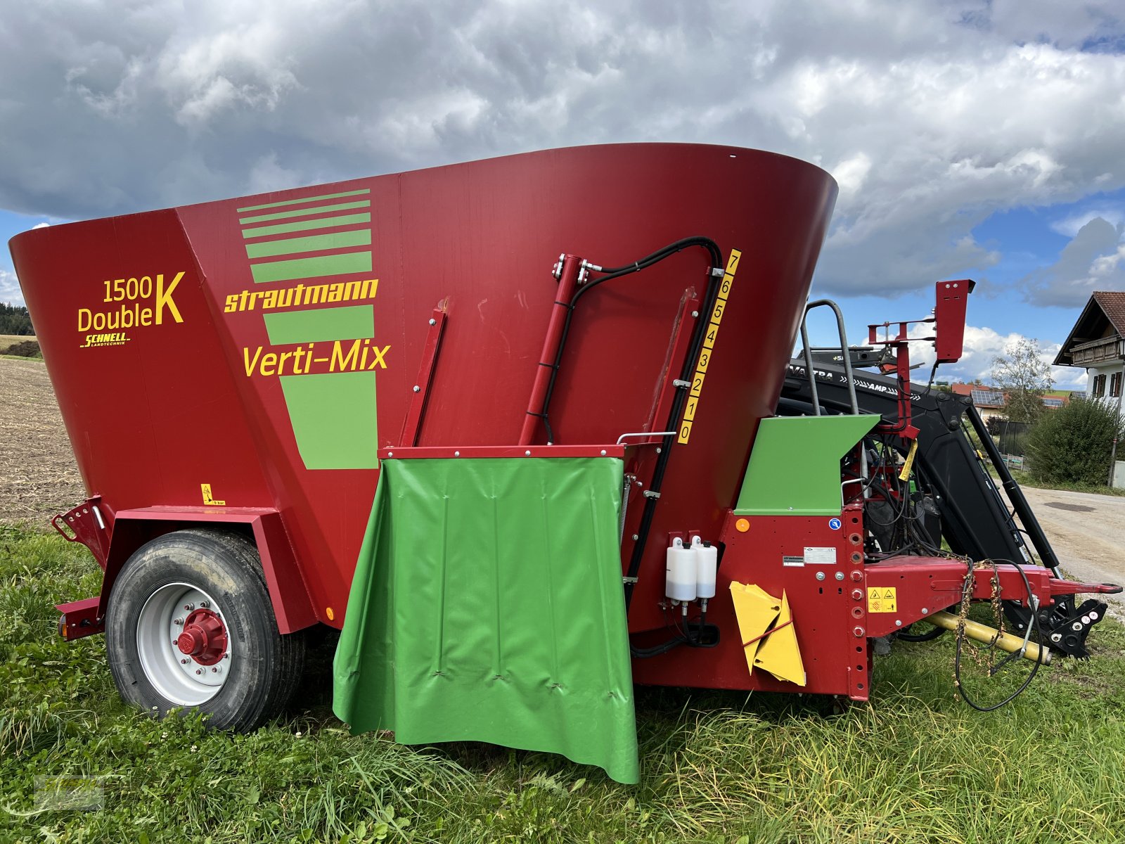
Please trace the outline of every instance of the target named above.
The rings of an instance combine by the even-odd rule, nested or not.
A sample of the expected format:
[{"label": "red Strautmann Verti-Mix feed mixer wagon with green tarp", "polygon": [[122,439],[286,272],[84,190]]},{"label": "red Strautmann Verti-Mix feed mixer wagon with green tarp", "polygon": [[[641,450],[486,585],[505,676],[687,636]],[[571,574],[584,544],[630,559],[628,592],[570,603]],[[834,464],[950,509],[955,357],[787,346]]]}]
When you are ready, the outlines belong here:
[{"label": "red Strautmann Verti-Mix feed mixer wagon with green tarp", "polygon": [[[908,326],[858,392],[849,354],[790,361],[835,198],[782,155],[611,145],[16,236],[89,493],[55,526],[105,569],[62,635],[245,730],[340,628],[354,729],[627,782],[633,683],[865,700],[921,621],[1077,654],[1104,605],[1073,595],[1116,587],[1015,559],[1002,517],[1016,553],[973,556],[939,459],[971,407],[912,423]],[[938,360],[971,287],[936,287]],[[1002,637],[958,618],[997,595]]]}]

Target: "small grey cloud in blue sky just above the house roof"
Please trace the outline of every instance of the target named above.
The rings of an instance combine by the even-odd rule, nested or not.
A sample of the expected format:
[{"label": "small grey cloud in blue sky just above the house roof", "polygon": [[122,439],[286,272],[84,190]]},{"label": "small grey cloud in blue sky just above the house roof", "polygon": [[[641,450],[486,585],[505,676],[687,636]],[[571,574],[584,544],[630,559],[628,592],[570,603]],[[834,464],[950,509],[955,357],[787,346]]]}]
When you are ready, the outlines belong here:
[{"label": "small grey cloud in blue sky just above the house roof", "polygon": [[1125,289],[1125,226],[1104,217],[1083,224],[1059,260],[1024,281],[1036,305],[1081,306],[1095,290]]}]

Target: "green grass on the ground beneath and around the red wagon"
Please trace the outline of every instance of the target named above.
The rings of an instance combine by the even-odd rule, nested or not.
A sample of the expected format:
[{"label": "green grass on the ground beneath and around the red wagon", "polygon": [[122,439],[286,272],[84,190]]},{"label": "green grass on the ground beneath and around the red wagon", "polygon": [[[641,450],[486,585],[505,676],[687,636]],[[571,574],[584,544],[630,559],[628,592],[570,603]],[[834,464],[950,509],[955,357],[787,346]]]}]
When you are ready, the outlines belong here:
[{"label": "green grass on the ground beneath and around the red wagon", "polygon": [[[547,754],[350,736],[327,650],[298,708],[253,735],[151,720],[119,702],[101,637],[54,632],[52,604],[98,586],[84,549],[0,528],[0,842],[1125,839],[1113,621],[1094,659],[1044,668],[991,715],[954,697],[948,635],[897,644],[872,703],[837,716],[813,697],[641,689],[627,787]],[[104,808],[36,812],[36,775],[100,776]]]}]

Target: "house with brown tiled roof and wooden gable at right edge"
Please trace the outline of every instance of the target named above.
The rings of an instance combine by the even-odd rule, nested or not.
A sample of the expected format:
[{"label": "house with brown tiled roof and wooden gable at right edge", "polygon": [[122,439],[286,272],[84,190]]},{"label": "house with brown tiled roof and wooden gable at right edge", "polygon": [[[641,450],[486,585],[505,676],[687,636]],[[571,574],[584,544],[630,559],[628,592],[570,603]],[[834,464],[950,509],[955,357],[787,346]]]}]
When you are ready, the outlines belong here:
[{"label": "house with brown tiled roof and wooden gable at right edge", "polygon": [[1125,376],[1125,293],[1097,290],[1090,296],[1054,363],[1084,368],[1087,397],[1119,404]]}]

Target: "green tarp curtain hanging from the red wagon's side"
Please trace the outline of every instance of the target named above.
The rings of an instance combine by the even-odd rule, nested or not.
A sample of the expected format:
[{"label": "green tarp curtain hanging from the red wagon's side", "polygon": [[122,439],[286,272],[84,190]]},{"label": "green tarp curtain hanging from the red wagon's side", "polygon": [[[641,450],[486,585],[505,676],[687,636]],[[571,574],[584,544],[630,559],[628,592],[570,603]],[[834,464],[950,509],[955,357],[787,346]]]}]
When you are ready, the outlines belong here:
[{"label": "green tarp curtain hanging from the red wagon's side", "polygon": [[340,719],[637,782],[621,478],[614,458],[384,460],[336,647]]}]

